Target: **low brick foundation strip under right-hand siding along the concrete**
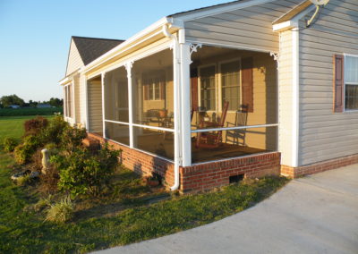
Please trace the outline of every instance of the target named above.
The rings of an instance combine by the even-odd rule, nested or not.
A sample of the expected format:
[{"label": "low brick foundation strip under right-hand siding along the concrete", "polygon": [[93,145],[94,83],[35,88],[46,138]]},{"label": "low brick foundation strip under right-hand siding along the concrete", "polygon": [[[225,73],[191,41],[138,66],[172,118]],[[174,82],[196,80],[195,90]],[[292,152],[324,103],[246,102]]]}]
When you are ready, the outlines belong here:
[{"label": "low brick foundation strip under right-hand siding along the concrete", "polygon": [[292,178],[297,178],[308,174],[317,174],[327,170],[336,169],[341,166],[354,165],[356,163],[358,163],[358,155],[339,157],[320,163],[298,167],[281,165],[281,174]]}]

